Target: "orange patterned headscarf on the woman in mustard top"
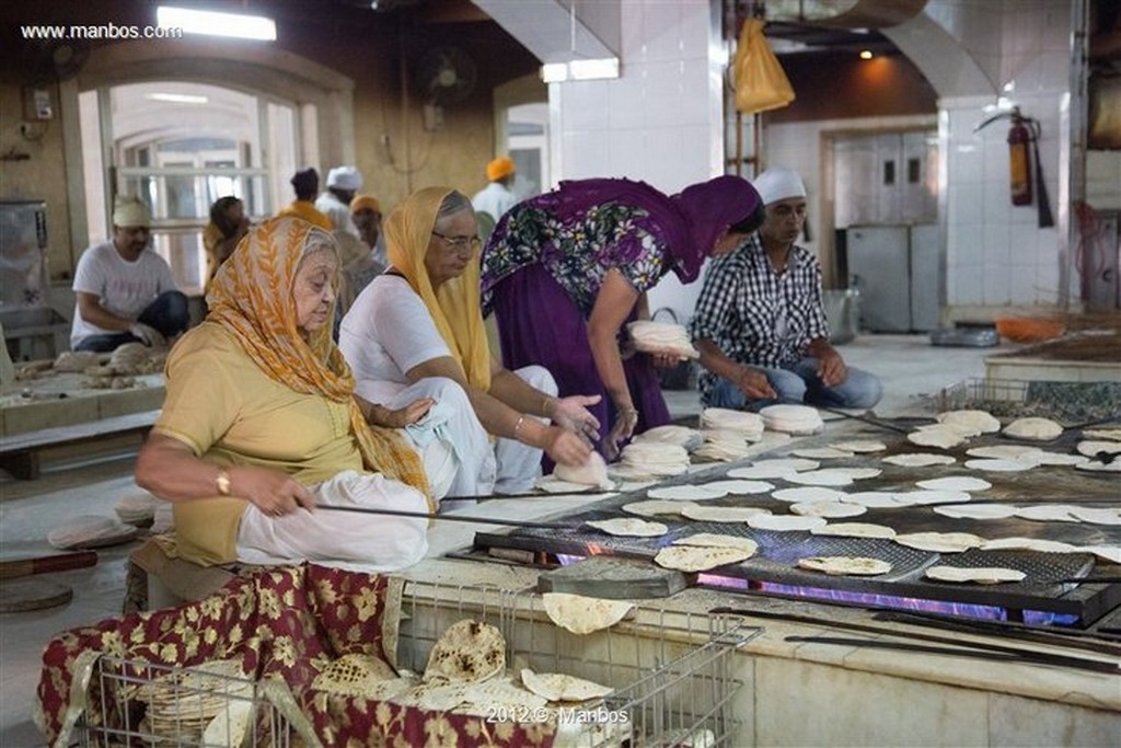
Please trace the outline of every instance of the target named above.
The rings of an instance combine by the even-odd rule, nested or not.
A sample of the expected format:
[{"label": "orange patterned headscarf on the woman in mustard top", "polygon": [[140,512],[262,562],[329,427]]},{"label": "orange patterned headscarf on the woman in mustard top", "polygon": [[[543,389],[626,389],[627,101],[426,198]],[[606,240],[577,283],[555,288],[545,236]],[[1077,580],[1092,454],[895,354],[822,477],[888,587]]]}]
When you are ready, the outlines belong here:
[{"label": "orange patterned headscarf on the woman in mustard top", "polygon": [[[350,405],[351,428],[370,470],[413,486],[430,497],[420,458],[392,428],[370,426],[354,400],[354,375],[331,339],[331,325],[312,333],[296,325],[293,283],[312,247],[328,246],[331,234],[307,221],[276,218],[251,231],[219,268],[206,304],[207,322],[229,330],[271,379],[297,393],[322,395]],[[335,280],[337,288],[337,276]],[[334,318],[332,304],[330,320]],[[428,500],[432,506],[432,499]]]}]

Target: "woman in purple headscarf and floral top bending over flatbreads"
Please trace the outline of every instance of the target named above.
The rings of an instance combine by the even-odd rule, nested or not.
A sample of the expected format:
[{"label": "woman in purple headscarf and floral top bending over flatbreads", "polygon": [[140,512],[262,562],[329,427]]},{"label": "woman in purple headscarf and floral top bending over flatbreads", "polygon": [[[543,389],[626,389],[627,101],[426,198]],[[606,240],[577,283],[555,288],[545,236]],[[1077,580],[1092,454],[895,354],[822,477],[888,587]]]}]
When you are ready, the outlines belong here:
[{"label": "woman in purple headscarf and floral top bending over flatbreads", "polygon": [[735,176],[673,196],[629,179],[562,182],[515,205],[482,256],[483,314],[494,312],[504,366],[544,366],[562,397],[604,395],[590,409],[614,459],[632,434],[669,423],[654,359],[620,353],[626,324],[649,318],[646,292],[666,273],[692,283],[706,257],[739,246],[760,209]]}]

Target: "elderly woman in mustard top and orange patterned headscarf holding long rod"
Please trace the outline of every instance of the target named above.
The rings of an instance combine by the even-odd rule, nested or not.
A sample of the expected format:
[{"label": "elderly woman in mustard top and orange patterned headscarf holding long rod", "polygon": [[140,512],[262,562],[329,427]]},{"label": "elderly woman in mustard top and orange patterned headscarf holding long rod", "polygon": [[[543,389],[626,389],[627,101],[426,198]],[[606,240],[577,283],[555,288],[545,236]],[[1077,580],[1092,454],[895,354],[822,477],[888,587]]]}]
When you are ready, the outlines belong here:
[{"label": "elderly woman in mustard top and orange patterned headscarf holding long rod", "polygon": [[330,233],[267,221],[222,265],[209,316],[173,349],[136,478],[174,502],[179,556],[391,571],[427,551],[420,459],[398,432],[368,425],[376,408],[355,398],[332,342],[337,284]]}]

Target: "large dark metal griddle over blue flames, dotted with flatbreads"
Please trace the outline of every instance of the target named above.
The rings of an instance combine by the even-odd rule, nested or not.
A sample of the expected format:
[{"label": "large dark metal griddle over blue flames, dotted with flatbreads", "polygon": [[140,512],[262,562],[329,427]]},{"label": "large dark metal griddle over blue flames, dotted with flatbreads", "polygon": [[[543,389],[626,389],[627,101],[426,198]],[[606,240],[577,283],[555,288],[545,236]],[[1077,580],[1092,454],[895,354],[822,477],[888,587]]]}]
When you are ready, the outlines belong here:
[{"label": "large dark metal griddle over blue flames, dotted with flatbreads", "polygon": [[[1000,436],[970,440],[966,445],[948,451],[957,458],[957,463],[933,468],[901,468],[882,462],[882,458],[900,452],[934,452],[929,447],[918,447],[907,442],[901,434],[884,431],[863,430],[859,436],[874,436],[888,445],[888,450],[872,455],[855,455],[841,460],[822,461],[823,468],[833,467],[878,467],[883,473],[874,479],[855,481],[841,489],[849,492],[867,490],[915,489],[915,481],[947,475],[981,477],[993,483],[986,491],[973,493],[974,502],[1008,502],[1030,505],[1045,502],[1083,504],[1090,507],[1108,507],[1121,504],[1121,492],[1117,488],[1117,474],[1077,471],[1071,467],[1040,467],[1019,473],[979,472],[964,467],[972,459],[965,450],[990,444],[1023,443]],[[825,445],[842,438],[837,435],[800,440],[798,446]],[[1076,433],[1066,433],[1053,443],[1031,444],[1045,450],[1074,452],[1078,441]],[[789,451],[789,450],[785,450]],[[767,456],[781,456],[779,452]],[[697,484],[726,477],[730,469],[743,463],[713,464],[712,469],[682,475],[661,486]],[[789,487],[781,480],[772,480],[776,488]],[[609,555],[651,561],[658,550],[679,537],[695,533],[722,533],[749,537],[759,544],[759,552],[742,564],[735,564],[706,572],[701,583],[716,583],[734,592],[736,587],[757,591],[760,583],[835,590],[839,592],[917,598],[964,604],[995,606],[1009,610],[1018,617],[1025,610],[1076,616],[1080,625],[1088,625],[1106,616],[1121,606],[1121,584],[1085,583],[1075,584],[1058,580],[1081,579],[1087,575],[1117,575],[1117,566],[1096,562],[1088,553],[1056,554],[1029,551],[969,551],[960,554],[938,554],[908,548],[891,541],[880,538],[847,538],[818,536],[810,533],[777,533],[756,530],[745,524],[693,521],[680,517],[657,517],[670,529],[658,538],[617,537],[587,527],[586,521],[612,517],[632,517],[622,511],[626,504],[646,499],[646,490],[632,491],[597,501],[578,511],[555,515],[548,519],[571,524],[564,532],[534,528],[516,528],[504,533],[479,533],[475,548],[508,548],[543,554],[572,556]],[[787,514],[789,505],[768,495],[728,496],[704,501],[705,506],[754,506],[771,509],[775,514]],[[1075,523],[1040,523],[1019,518],[995,520],[971,520],[944,517],[929,506],[901,507],[891,509],[870,508],[865,514],[837,521],[860,521],[884,524],[897,533],[917,532],[966,532],[982,537],[1036,537],[1059,541],[1073,545],[1121,545],[1121,526],[1086,525]],[[800,557],[814,555],[859,555],[889,561],[892,570],[881,576],[830,576],[803,571],[796,567]],[[949,584],[924,578],[932,565],[955,566],[1007,566],[1018,569],[1027,578],[1016,584]],[[723,583],[722,583],[723,580]],[[739,580],[740,583],[729,583]]]}]

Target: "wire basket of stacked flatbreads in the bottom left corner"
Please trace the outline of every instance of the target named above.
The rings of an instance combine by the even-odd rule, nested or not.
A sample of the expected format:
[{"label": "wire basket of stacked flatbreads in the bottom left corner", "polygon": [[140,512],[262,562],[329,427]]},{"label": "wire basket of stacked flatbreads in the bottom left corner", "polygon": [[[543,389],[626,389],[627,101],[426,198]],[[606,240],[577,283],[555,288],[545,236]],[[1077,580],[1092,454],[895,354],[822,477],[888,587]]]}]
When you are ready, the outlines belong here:
[{"label": "wire basket of stacked flatbreads in the bottom left corner", "polygon": [[85,653],[56,746],[321,746],[291,692],[241,663],[195,667]]}]

